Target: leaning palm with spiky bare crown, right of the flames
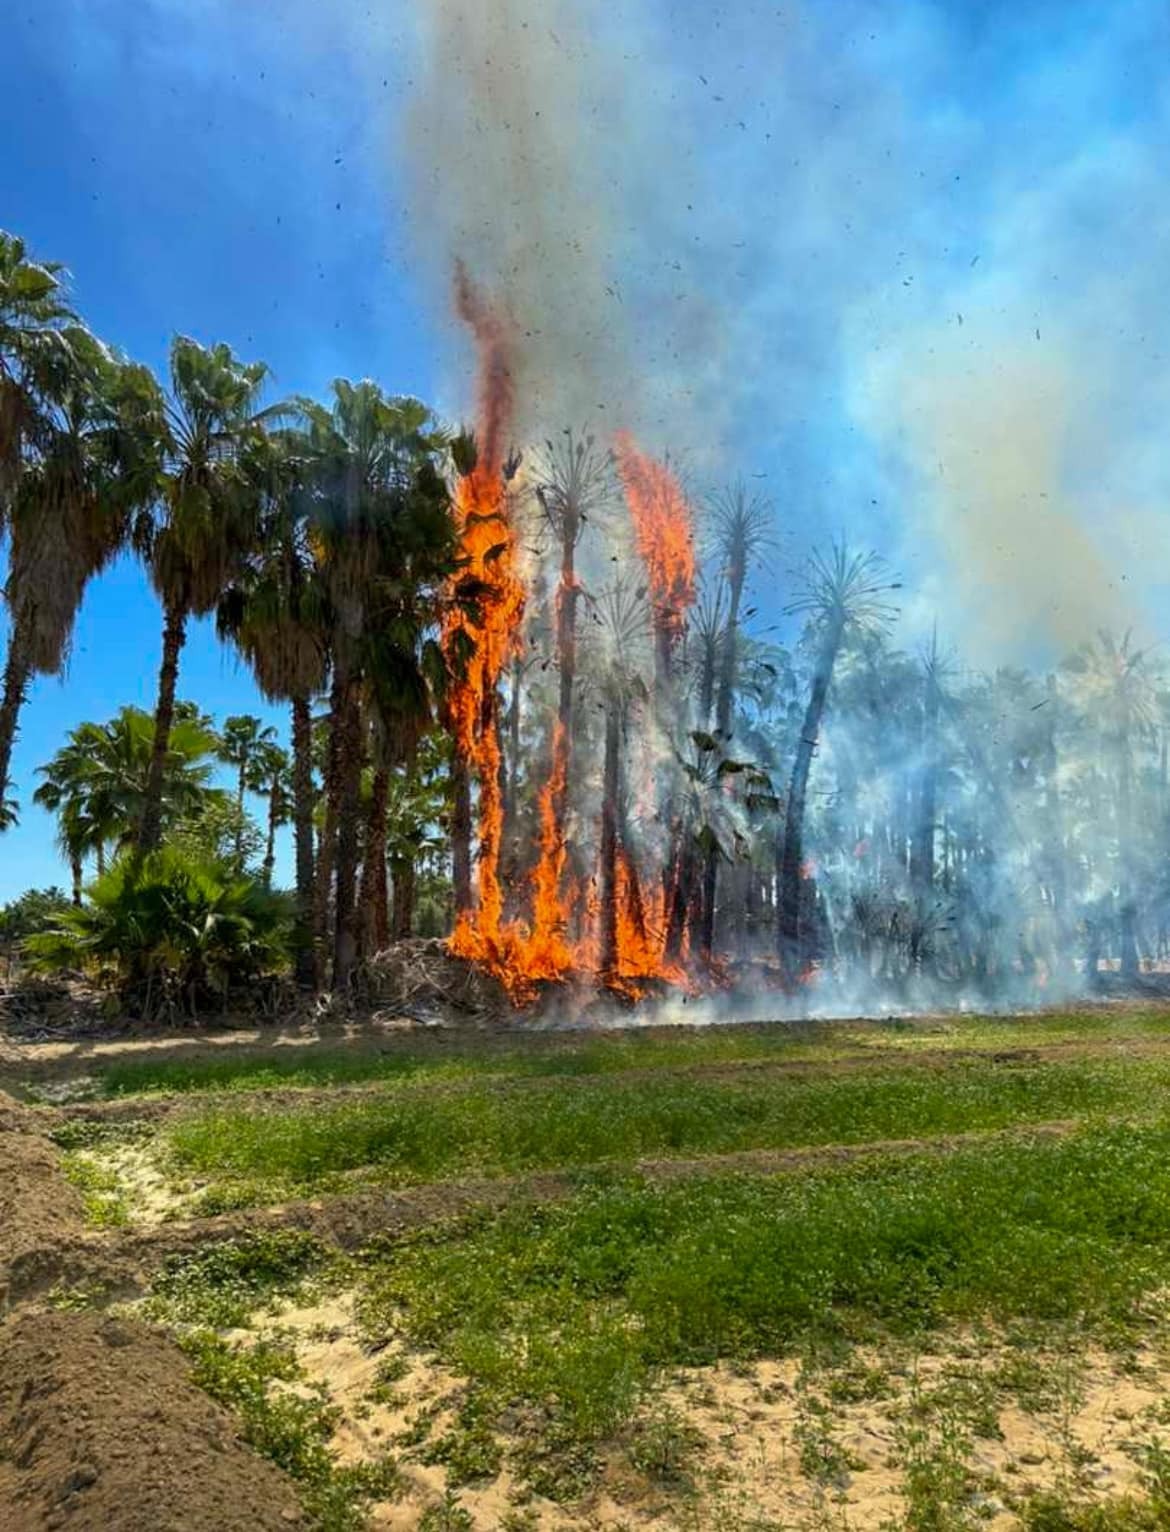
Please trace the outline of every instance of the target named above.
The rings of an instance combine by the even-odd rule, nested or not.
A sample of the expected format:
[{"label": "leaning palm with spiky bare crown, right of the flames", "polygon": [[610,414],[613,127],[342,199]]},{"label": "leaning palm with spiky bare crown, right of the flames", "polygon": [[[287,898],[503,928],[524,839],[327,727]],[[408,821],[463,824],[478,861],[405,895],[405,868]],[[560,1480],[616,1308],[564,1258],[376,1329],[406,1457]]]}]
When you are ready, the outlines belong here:
[{"label": "leaning palm with spiky bare crown, right of the flames", "polygon": [[893,619],[894,608],[884,597],[899,588],[899,582],[885,578],[885,567],[876,553],[850,553],[844,542],[835,542],[827,556],[812,555],[804,590],[787,608],[789,613],[809,617],[810,636],[816,643],[809,703],[789,781],[779,856],[778,950],[789,982],[799,976],[806,959],[801,931],[804,809],[833,666],[841,640],[850,628],[881,630]]}]

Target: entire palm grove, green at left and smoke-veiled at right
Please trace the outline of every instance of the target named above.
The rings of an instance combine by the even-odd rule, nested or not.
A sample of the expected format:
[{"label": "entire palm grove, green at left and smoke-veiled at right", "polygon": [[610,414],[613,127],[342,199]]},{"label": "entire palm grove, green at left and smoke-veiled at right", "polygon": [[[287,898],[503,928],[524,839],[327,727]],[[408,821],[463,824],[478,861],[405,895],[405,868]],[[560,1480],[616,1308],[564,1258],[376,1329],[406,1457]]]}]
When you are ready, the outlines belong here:
[{"label": "entire palm grove, green at left and smoke-veiled at right", "polygon": [[[568,567],[571,599],[534,584],[505,677],[505,870],[510,887],[533,873],[548,720],[593,731],[605,931],[614,847],[646,812],[629,699],[654,679],[623,631],[655,614],[645,588],[576,573],[577,542],[605,536],[620,492],[611,455],[567,435],[530,458],[518,513]],[[3,823],[18,813],[9,766],[29,682],[61,673],[89,582],[127,550],[161,633],[153,714],[84,723],[40,769],[72,899],[17,901],[0,939],[8,921],[37,964],[86,967],[155,1010],[286,968],[346,990],[392,939],[449,928],[470,858],[464,763],[443,726],[458,654],[440,628],[452,605],[473,628],[481,599],[452,507],[473,461],[467,435],[371,381],[274,401],[262,363],[187,337],[159,380],[92,336],[58,267],[0,234]],[[743,484],[695,499],[698,601],[669,656],[651,642],[643,666],[668,663],[683,699],[666,725],[672,791],[654,810],[674,847],[674,956],[720,973],[773,962],[789,987],[816,964],[902,993],[1095,976],[1109,961],[1132,977],[1164,956],[1170,692],[1149,653],[1100,634],[1044,676],[966,671],[937,640],[900,653],[894,582],[844,547],[793,585],[784,648],[750,631],[746,605],[772,507]],[[286,746],[182,697],[187,630],[207,616],[288,709]],[[611,639],[596,662],[593,628]],[[283,824],[288,895],[273,887]]]}]

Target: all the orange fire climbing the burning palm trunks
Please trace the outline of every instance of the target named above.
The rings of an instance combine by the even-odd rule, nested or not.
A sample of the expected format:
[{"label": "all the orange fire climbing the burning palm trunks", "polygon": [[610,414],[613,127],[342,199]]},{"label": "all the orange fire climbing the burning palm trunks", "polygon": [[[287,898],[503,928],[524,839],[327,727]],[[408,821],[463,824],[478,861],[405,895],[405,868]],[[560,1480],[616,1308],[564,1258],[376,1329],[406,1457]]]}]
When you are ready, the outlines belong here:
[{"label": "all the orange fire climbing the burning palm trunks", "polygon": [[[449,602],[443,648],[452,671],[447,723],[478,792],[478,890],[473,907],[459,912],[450,948],[482,964],[518,1005],[531,1000],[541,982],[574,976],[603,979],[631,997],[640,996],[649,980],[689,987],[686,971],[663,958],[666,892],[662,872],[640,882],[625,846],[616,864],[617,964],[616,971],[600,973],[597,879],[590,878],[574,889],[565,885],[573,740],[564,717],[557,717],[551,729],[550,771],[536,803],[531,922],[504,919],[499,682],[519,653],[527,597],[505,463],[511,421],[510,331],[462,270],[456,273],[456,303],[479,352],[479,427],[476,464],[455,489],[459,570],[450,594],[464,584],[473,585],[476,610],[472,613]],[[681,636],[695,596],[691,509],[674,473],[646,457],[628,432],[619,435],[616,455],[654,601],[659,660],[665,657],[669,668],[669,651]],[[570,564],[556,594],[557,617],[568,610],[570,624],[573,608],[564,604],[577,588]]]}]

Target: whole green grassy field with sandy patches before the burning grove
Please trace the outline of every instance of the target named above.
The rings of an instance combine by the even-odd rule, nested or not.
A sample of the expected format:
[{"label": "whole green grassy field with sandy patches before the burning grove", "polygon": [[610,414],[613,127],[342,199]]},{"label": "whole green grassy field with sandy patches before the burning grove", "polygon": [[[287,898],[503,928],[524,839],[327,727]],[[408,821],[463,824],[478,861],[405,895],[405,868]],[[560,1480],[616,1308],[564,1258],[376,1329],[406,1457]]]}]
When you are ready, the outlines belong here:
[{"label": "whole green grassy field with sandy patches before the burning grove", "polygon": [[[144,1164],[172,1198],[155,1216],[364,1183],[432,1187],[441,1215],[444,1184],[519,1178],[502,1210],[358,1252],[277,1229],[155,1282],[147,1311],[320,1527],[1153,1532],[1167,1031],[1098,1013],[139,1060],[103,1094],[173,1109],[61,1137],[107,1227],[139,1216]],[[741,1151],[790,1158],[721,1158]],[[524,1181],[545,1170],[554,1200]]]}]

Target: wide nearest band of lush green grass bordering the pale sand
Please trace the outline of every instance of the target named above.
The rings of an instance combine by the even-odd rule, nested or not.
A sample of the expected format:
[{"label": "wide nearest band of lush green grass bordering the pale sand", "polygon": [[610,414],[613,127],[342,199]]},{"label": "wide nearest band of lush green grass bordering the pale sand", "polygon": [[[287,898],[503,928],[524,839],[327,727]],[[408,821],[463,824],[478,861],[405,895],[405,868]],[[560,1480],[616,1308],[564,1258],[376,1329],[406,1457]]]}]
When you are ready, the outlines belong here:
[{"label": "wide nearest band of lush green grass bordering the pale sand", "polygon": [[665,1370],[985,1321],[1132,1342],[1168,1261],[1162,1123],[802,1175],[599,1181],[389,1246],[358,1311],[372,1344],[397,1336],[469,1379],[467,1429],[507,1411],[513,1466],[571,1495]]}]

